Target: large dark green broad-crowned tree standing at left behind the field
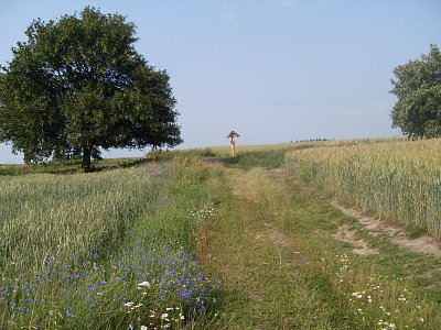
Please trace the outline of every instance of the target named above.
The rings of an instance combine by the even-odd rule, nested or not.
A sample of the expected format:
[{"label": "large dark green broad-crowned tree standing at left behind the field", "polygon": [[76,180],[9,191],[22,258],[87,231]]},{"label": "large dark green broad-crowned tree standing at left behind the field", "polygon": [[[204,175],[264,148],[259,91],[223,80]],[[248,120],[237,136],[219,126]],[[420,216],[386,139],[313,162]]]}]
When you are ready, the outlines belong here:
[{"label": "large dark green broad-crowned tree standing at left behind the field", "polygon": [[166,72],[135,50],[136,28],[120,14],[85,8],[35,20],[0,72],[0,142],[26,163],[100,148],[182,142]]}]

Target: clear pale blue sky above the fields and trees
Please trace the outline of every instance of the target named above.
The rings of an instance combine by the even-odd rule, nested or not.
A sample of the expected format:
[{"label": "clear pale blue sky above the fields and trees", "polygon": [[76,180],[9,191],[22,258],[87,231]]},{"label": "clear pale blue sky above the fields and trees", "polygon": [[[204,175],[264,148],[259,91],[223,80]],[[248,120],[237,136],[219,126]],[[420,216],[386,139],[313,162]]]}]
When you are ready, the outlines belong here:
[{"label": "clear pale blue sky above the fields and trees", "polygon": [[[184,144],[378,138],[391,129],[394,67],[441,46],[433,0],[1,0],[0,64],[44,21],[94,6],[127,15],[137,50],[166,69]],[[111,151],[105,156],[140,155]],[[20,162],[0,146],[0,163]]]}]

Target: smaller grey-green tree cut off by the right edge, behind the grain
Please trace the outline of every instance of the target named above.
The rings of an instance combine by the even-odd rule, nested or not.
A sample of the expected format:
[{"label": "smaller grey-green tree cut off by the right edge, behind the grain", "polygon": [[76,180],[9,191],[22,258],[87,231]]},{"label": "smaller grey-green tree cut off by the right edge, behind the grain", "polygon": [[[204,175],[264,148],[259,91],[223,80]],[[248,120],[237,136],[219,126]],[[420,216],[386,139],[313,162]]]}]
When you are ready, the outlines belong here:
[{"label": "smaller grey-green tree cut off by the right edge, behind the grain", "polygon": [[398,98],[392,125],[409,138],[441,136],[441,53],[430,45],[429,55],[394,70],[391,92]]}]

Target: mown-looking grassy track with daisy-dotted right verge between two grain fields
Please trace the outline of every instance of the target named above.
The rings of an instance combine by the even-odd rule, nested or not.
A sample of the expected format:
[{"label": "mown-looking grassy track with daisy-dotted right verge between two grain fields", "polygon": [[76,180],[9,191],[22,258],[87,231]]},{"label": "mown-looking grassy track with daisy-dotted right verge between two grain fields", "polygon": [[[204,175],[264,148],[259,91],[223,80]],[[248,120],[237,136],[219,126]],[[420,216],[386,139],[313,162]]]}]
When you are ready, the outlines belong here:
[{"label": "mown-looking grassy track with daisy-dotted right verge between two grain fields", "polygon": [[[441,279],[419,280],[437,260],[367,235],[280,170],[213,167],[212,186],[229,187],[203,231],[203,265],[220,286],[213,329],[439,329]],[[354,255],[333,239],[342,223],[381,253]]]}]

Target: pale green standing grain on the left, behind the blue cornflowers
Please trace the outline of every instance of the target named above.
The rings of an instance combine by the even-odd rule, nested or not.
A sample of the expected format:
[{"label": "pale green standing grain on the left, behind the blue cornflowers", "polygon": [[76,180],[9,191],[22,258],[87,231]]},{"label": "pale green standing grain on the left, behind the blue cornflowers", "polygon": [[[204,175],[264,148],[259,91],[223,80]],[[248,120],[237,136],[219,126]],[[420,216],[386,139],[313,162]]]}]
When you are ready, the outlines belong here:
[{"label": "pale green standing grain on the left, behind the blue cornflowers", "polygon": [[[0,177],[0,266],[37,266],[44,256],[103,250],[125,239],[146,209],[141,168],[103,174]],[[32,250],[30,251],[30,246]]]}]

